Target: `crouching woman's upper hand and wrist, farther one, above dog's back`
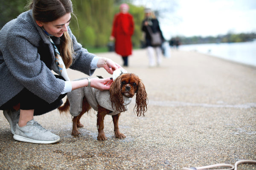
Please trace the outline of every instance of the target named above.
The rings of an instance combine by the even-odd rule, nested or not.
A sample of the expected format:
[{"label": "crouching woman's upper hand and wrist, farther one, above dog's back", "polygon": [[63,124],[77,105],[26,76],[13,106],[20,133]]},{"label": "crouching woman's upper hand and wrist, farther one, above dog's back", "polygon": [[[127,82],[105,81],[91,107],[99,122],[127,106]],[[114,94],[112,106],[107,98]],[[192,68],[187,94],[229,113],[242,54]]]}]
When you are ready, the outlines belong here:
[{"label": "crouching woman's upper hand and wrist, farther one, above dog's back", "polygon": [[[122,68],[119,64],[117,64],[116,62],[113,62],[111,59],[107,59],[107,58],[100,58],[97,63],[97,67],[105,68],[105,70],[108,71],[109,74],[113,74],[113,71],[115,71],[118,68]],[[124,69],[124,68],[122,68],[122,69]]]}]

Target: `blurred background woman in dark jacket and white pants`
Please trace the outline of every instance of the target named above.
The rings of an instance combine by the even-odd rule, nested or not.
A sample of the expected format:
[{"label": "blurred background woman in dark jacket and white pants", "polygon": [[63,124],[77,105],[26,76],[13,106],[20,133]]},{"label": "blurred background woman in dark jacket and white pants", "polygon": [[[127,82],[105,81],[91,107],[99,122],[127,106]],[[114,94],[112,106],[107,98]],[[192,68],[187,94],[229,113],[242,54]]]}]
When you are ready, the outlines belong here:
[{"label": "blurred background woman in dark jacket and white pants", "polygon": [[162,54],[161,45],[151,44],[150,32],[153,32],[153,33],[160,32],[162,42],[164,41],[164,38],[159,26],[159,22],[157,18],[154,16],[151,9],[149,8],[145,9],[145,19],[143,20],[143,23],[142,23],[142,31],[145,32],[145,46],[147,48],[149,66],[153,67],[155,65],[154,51],[156,51],[157,65],[159,66],[161,64],[161,54]]}]

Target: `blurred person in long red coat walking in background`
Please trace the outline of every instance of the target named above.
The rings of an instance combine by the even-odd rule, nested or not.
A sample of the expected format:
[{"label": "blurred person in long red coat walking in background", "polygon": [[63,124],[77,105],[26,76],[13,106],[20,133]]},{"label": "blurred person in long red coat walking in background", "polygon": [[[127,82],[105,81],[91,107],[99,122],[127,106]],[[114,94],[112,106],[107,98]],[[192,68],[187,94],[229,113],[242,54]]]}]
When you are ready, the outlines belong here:
[{"label": "blurred person in long red coat walking in background", "polygon": [[128,13],[129,6],[122,3],[120,12],[115,14],[113,19],[112,33],[110,40],[115,40],[116,54],[122,56],[124,66],[128,66],[128,56],[132,54],[131,36],[134,32],[134,19]]}]

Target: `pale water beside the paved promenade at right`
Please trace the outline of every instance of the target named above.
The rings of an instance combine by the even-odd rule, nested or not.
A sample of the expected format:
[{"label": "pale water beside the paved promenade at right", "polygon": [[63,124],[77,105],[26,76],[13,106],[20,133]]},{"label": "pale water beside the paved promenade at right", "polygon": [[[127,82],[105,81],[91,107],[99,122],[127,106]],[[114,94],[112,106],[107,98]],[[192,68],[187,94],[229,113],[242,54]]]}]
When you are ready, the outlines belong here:
[{"label": "pale water beside the paved promenade at right", "polygon": [[180,45],[180,50],[198,51],[203,54],[256,66],[256,40],[252,42]]}]

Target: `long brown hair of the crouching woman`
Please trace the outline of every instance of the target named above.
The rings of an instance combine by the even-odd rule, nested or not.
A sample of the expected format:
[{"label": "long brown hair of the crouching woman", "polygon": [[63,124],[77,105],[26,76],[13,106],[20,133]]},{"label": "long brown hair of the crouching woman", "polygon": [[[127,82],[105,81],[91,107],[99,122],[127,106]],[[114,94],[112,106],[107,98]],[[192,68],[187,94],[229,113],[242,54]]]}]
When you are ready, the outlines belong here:
[{"label": "long brown hair of the crouching woman", "polygon": [[[67,13],[73,14],[71,0],[30,0],[27,8],[32,9],[35,20],[47,23],[57,20]],[[68,34],[64,32],[61,36],[60,54],[66,68],[72,64],[74,54],[73,42]]]}]

